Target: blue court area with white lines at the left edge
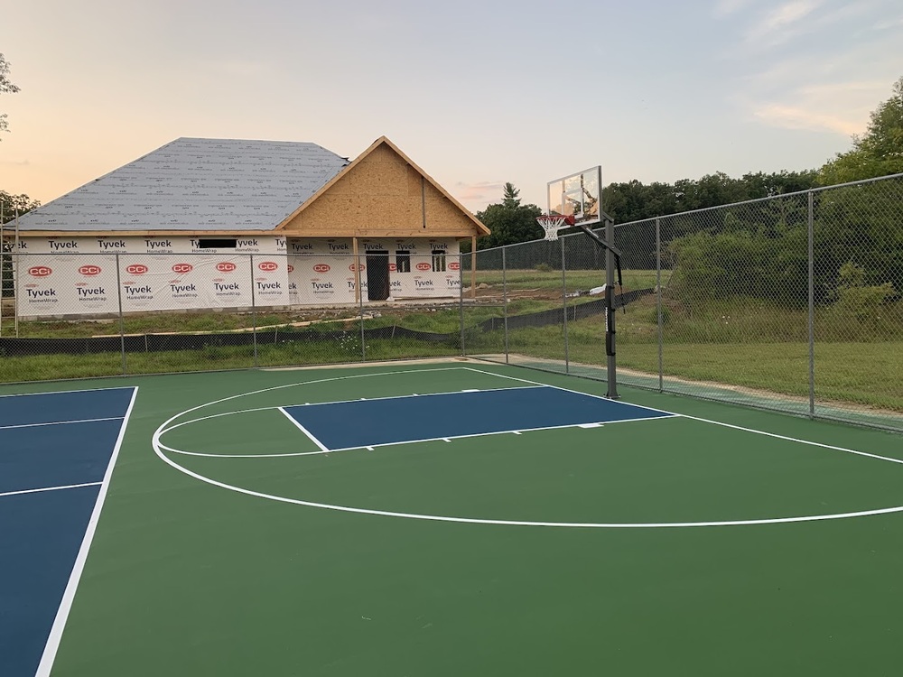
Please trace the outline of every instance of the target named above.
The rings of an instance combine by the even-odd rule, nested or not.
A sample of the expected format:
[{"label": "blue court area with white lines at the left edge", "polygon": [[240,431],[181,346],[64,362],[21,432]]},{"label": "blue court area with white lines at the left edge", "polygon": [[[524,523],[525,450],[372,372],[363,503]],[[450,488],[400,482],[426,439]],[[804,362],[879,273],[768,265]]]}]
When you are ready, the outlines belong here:
[{"label": "blue court area with white lines at the left edge", "polygon": [[65,622],[134,396],[111,388],[0,398],[4,677],[35,674],[45,647],[52,657],[51,629],[59,640],[54,622]]}]

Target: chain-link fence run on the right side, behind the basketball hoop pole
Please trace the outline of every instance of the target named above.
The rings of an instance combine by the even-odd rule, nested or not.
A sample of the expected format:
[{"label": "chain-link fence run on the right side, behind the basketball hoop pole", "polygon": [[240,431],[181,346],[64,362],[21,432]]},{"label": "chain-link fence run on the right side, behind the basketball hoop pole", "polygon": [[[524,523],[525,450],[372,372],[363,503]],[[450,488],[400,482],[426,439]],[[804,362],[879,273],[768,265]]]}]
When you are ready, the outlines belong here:
[{"label": "chain-link fence run on the right side, behind the basketball hoop pole", "polygon": [[[903,176],[619,224],[615,244],[620,383],[903,431]],[[504,360],[605,380],[600,247],[501,257],[502,293],[559,317],[509,317]]]}]

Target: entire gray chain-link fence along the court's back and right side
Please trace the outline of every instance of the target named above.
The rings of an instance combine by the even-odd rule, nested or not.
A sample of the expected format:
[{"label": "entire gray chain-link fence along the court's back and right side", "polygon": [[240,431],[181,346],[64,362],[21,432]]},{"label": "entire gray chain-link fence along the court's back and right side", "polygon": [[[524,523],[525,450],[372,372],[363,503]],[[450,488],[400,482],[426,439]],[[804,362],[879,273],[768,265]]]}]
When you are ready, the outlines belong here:
[{"label": "entire gray chain-link fence along the court's back and right side", "polygon": [[[620,383],[903,431],[903,176],[619,224],[615,244]],[[353,256],[108,258],[48,287],[7,244],[0,382],[454,356],[608,378],[606,257],[582,233],[387,278]]]}]

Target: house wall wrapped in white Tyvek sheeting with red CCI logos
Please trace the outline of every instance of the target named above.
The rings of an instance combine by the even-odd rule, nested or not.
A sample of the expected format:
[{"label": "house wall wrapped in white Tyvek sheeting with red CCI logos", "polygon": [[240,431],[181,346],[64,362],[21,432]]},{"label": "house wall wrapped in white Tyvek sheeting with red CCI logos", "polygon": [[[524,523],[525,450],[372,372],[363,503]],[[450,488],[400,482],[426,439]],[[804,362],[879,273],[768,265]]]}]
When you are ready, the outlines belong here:
[{"label": "house wall wrapped in white Tyvek sheeting with red CCI logos", "polygon": [[[198,238],[186,236],[22,238],[18,312],[25,318],[116,314],[120,296],[124,312],[355,302],[358,260],[350,238],[239,236],[236,244],[201,248]],[[454,239],[367,238],[358,240],[365,302],[369,249],[389,252],[394,298],[457,295]],[[398,251],[410,252],[410,272],[391,269]],[[434,261],[433,252],[442,251],[444,262]]]}]

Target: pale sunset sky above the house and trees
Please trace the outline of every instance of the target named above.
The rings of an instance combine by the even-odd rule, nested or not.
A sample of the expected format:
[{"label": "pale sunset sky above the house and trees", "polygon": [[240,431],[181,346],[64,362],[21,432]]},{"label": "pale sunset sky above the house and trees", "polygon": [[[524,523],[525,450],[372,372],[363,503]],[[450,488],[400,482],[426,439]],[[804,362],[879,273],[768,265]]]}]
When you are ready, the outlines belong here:
[{"label": "pale sunset sky above the house and trees", "polygon": [[0,190],[47,203],[182,136],[387,136],[473,212],[506,182],[816,169],[903,76],[900,0],[5,0]]}]

